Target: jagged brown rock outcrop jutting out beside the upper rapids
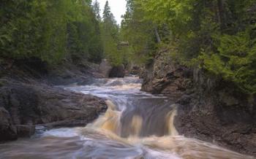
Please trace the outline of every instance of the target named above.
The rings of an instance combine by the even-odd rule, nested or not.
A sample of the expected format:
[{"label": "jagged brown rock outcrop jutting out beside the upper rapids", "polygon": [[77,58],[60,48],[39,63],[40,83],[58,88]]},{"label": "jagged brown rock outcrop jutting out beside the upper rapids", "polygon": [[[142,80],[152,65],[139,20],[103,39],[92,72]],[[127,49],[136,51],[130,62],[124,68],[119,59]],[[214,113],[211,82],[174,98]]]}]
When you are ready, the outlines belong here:
[{"label": "jagged brown rock outcrop jutting out beside the upper rapids", "polygon": [[142,90],[150,93],[161,93],[176,100],[192,86],[192,71],[172,62],[170,55],[160,52],[152,63],[146,66],[142,75]]}]

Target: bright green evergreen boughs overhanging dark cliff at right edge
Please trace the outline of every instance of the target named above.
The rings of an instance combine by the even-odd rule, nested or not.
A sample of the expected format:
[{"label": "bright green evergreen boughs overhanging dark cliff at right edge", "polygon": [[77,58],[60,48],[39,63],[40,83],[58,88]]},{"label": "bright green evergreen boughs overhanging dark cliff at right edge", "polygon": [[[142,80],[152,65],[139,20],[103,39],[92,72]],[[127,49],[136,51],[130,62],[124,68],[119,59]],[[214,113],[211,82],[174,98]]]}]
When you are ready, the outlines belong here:
[{"label": "bright green evergreen boughs overhanging dark cliff at right edge", "polygon": [[233,81],[246,93],[256,93],[256,39],[248,31],[219,38],[219,53],[200,55],[208,71]]}]

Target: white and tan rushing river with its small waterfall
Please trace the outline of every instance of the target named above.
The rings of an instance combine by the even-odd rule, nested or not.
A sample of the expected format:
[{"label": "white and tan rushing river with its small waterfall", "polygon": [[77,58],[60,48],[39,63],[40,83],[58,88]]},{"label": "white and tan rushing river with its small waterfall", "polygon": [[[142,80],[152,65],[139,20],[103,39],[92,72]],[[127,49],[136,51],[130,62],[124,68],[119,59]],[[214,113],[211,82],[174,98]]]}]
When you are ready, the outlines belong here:
[{"label": "white and tan rushing river with its small waterfall", "polygon": [[105,98],[107,112],[85,128],[39,131],[32,139],[0,144],[0,158],[251,158],[179,136],[176,105],[140,87],[135,77],[66,87]]}]

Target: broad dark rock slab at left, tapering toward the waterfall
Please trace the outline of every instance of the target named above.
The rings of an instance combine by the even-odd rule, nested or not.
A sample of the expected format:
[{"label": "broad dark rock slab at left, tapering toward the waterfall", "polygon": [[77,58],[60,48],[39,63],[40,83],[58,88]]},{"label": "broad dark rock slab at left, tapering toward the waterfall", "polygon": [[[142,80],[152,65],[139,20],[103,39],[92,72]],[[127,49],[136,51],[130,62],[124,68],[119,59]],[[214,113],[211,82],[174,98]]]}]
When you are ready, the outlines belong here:
[{"label": "broad dark rock slab at left, tapering toward the waterfall", "polygon": [[0,88],[0,141],[31,136],[35,124],[82,126],[107,109],[101,99],[44,84]]}]

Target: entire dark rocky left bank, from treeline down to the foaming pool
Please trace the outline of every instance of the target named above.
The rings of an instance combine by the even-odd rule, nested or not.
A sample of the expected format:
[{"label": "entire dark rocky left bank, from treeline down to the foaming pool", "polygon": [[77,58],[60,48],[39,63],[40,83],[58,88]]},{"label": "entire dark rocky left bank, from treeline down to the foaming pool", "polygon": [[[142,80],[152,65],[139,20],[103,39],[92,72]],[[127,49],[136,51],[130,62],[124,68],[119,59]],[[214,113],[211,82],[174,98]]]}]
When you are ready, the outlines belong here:
[{"label": "entire dark rocky left bank, from treeline down to the foaming pool", "polygon": [[48,66],[37,59],[0,62],[0,141],[34,134],[35,125],[48,128],[84,126],[105,112],[100,98],[55,85],[86,84],[104,77],[88,61],[64,61]]}]

